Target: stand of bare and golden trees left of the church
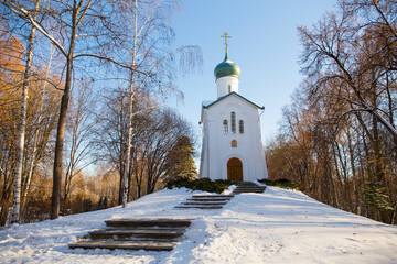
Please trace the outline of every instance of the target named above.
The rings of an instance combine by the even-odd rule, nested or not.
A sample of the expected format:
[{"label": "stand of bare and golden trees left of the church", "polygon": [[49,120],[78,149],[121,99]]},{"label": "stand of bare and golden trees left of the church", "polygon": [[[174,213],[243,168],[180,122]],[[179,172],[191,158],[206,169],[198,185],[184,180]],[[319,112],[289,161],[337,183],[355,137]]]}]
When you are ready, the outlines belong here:
[{"label": "stand of bare and golden trees left of the church", "polygon": [[[120,194],[126,194],[120,187],[124,175],[129,180],[126,188],[129,199],[161,188],[167,154],[174,145],[176,132],[182,134],[175,130],[187,125],[178,123],[179,119],[162,122],[155,111],[164,112],[167,108],[159,107],[158,100],[170,92],[181,95],[174,86],[178,64],[184,73],[202,61],[197,46],[174,50],[170,45],[174,37],[172,29],[163,22],[178,8],[171,6],[150,1],[1,2],[0,226],[9,219],[11,202],[14,208],[11,221],[18,222],[18,212],[22,211],[21,223],[55,219],[61,204],[64,215],[95,209],[96,202],[100,207],[115,205]],[[130,20],[131,14],[136,19]],[[8,23],[10,29],[1,29]],[[94,84],[97,90],[105,88],[83,97],[99,95],[101,109],[95,109],[89,101],[79,110],[74,96],[87,84]],[[115,106],[121,108],[120,116],[99,134],[107,118],[104,109],[112,107],[115,94],[110,94],[115,91],[120,92]],[[132,99],[132,94],[136,97],[140,92],[144,95]],[[124,109],[128,100],[131,114]],[[148,100],[153,105],[144,103]],[[142,116],[148,117],[149,110],[155,109],[151,119],[137,119],[132,101],[142,102],[142,109],[137,110]],[[86,118],[84,111],[94,114]],[[129,123],[138,124],[133,124],[137,132],[133,139],[132,127],[126,123],[128,116]],[[129,132],[125,131],[126,125]],[[95,134],[87,132],[90,130]],[[121,140],[112,141],[111,133],[116,138],[121,135]],[[98,146],[100,141],[105,144]],[[137,146],[129,145],[131,142]],[[125,158],[130,148],[133,155]],[[109,168],[88,177],[83,169],[89,168],[95,160],[104,161]]]}]

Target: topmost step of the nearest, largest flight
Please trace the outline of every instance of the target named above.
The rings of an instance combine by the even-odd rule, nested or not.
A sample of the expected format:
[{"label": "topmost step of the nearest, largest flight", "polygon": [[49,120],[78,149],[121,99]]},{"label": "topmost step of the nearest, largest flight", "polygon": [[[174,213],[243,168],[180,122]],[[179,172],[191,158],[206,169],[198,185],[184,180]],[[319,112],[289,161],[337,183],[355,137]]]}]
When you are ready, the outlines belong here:
[{"label": "topmost step of the nearest, largest flight", "polygon": [[140,227],[169,227],[186,228],[192,223],[192,219],[150,219],[150,218],[120,218],[105,220],[107,227],[140,228]]}]

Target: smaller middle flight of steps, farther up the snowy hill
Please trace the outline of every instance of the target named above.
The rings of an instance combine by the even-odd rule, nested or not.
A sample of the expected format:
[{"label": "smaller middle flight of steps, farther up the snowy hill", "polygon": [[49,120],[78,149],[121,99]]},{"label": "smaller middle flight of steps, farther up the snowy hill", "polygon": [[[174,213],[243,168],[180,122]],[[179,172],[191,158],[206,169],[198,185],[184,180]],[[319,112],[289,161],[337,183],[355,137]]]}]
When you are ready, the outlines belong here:
[{"label": "smaller middle flight of steps, farther up the snowy hill", "polygon": [[234,195],[193,195],[181,202],[179,209],[222,209]]}]

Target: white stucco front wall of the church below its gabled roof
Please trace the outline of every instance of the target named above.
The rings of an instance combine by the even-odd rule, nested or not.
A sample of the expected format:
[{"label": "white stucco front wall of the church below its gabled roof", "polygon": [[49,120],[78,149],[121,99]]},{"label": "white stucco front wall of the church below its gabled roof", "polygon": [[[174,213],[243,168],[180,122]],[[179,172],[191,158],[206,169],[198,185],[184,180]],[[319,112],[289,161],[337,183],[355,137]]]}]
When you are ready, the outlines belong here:
[{"label": "white stucco front wall of the church below its gabled roof", "polygon": [[[232,133],[230,113],[236,113],[236,133]],[[243,163],[243,179],[267,178],[265,152],[260,135],[259,111],[236,95],[216,102],[202,112],[203,145],[200,177],[227,179],[227,162],[237,157]],[[224,133],[223,120],[228,121]],[[244,133],[239,133],[239,120],[244,120]],[[232,147],[232,141],[237,147]]]}]

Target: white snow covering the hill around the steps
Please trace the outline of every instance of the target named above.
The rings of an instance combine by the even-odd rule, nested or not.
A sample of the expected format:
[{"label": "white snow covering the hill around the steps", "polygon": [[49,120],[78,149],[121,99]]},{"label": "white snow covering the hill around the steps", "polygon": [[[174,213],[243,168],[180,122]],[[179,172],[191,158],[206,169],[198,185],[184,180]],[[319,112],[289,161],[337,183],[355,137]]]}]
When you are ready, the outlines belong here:
[{"label": "white snow covering the hill around the steps", "polygon": [[[232,191],[233,188],[228,190]],[[175,209],[187,189],[163,189],[127,208],[62,217],[0,231],[0,263],[397,263],[397,227],[268,187],[219,210]],[[115,218],[194,218],[171,252],[71,250]]]}]

